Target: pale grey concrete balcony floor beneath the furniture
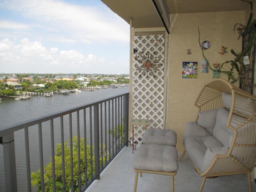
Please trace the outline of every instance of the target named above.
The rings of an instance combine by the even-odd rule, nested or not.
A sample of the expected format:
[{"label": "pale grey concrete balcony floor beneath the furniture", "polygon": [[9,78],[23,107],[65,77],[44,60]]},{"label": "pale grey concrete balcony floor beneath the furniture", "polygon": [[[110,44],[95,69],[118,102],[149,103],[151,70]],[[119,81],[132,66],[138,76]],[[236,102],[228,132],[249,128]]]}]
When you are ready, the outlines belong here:
[{"label": "pale grey concrete balcony floor beneath the furniture", "polygon": [[[124,149],[102,172],[100,180],[94,181],[86,192],[132,192],[134,189],[135,172],[132,170],[132,147]],[[180,157],[181,154],[179,154]],[[174,176],[175,192],[198,192],[202,177],[194,170],[194,166],[185,154],[179,169]],[[137,192],[170,192],[170,176],[142,174],[138,176]],[[248,192],[246,175],[220,176],[206,179],[203,192]],[[256,184],[252,181],[252,191]]]}]

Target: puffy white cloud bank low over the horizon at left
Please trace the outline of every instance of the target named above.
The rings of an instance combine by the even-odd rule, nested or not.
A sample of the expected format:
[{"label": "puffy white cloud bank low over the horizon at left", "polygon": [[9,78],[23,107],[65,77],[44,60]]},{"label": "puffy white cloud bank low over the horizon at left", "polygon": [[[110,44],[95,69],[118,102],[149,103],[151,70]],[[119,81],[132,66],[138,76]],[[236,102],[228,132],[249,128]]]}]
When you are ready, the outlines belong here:
[{"label": "puffy white cloud bank low over the horizon at left", "polygon": [[14,44],[8,38],[0,40],[1,72],[81,72],[95,64],[104,63],[104,58],[89,54],[87,57],[76,50],[47,50],[41,42],[24,38]]}]

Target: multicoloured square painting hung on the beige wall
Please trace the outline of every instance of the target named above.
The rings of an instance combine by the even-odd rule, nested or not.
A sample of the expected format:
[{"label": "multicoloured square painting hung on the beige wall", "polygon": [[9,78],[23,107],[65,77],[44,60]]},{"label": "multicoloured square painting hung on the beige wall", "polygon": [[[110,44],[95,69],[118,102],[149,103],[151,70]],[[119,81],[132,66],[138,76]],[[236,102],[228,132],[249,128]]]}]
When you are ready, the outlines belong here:
[{"label": "multicoloured square painting hung on the beige wall", "polygon": [[182,78],[197,78],[197,62],[182,62]]}]

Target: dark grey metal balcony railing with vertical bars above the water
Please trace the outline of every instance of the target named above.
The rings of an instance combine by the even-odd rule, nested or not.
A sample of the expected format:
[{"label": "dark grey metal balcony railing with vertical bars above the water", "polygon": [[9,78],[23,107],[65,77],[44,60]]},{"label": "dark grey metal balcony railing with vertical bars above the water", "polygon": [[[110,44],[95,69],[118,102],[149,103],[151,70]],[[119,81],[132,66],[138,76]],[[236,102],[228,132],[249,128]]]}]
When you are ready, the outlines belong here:
[{"label": "dark grey metal balcony railing with vertical bars above the water", "polygon": [[[47,191],[49,183],[53,191],[86,190],[128,144],[128,97],[121,94],[0,129],[5,191]],[[15,144],[20,140],[24,152]],[[17,160],[22,159],[17,151],[24,162]],[[17,163],[24,164],[19,178]],[[37,186],[32,172],[39,175]]]}]

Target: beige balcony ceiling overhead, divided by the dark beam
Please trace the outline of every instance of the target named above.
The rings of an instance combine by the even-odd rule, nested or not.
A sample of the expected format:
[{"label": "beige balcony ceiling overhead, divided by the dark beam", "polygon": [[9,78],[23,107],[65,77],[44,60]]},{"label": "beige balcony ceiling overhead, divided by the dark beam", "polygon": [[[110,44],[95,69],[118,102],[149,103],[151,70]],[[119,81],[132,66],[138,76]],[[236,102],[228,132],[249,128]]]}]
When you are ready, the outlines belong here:
[{"label": "beige balcony ceiling overhead, divided by the dark beam", "polygon": [[[151,0],[101,0],[134,28],[163,27]],[[254,1],[254,0],[248,0]],[[242,0],[166,0],[171,14],[246,10]]]}]

